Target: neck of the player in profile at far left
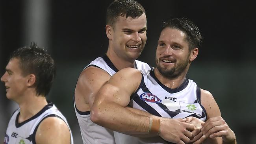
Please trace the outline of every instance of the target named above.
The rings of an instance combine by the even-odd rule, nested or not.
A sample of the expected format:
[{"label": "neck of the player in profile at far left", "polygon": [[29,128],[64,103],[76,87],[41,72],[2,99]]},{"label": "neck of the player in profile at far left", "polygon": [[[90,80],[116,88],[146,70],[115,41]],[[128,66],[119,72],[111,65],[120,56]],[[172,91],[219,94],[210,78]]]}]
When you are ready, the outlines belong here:
[{"label": "neck of the player in profile at far left", "polygon": [[22,102],[18,103],[20,107],[19,123],[28,120],[47,105],[44,96],[36,96],[32,94],[26,95],[22,99]]}]

